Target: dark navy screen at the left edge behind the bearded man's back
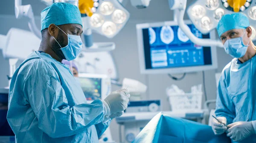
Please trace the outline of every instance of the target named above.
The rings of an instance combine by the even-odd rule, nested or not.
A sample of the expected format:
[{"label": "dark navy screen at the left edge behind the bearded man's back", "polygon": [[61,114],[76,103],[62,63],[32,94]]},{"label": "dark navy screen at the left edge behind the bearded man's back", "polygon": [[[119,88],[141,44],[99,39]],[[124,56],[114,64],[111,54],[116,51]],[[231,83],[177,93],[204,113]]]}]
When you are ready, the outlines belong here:
[{"label": "dark navy screen at the left edge behind the bearded man's back", "polygon": [[14,136],[9,123],[6,120],[7,111],[8,93],[0,93],[0,136]]}]

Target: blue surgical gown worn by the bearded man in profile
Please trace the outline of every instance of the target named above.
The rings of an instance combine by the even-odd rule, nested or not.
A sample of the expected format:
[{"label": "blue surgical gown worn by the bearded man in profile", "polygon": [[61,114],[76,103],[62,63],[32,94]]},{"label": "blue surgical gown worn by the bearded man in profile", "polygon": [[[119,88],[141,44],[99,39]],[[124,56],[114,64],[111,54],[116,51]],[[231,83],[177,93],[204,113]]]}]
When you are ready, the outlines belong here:
[{"label": "blue surgical gown worn by the bearded man in profile", "polygon": [[101,100],[87,104],[68,66],[38,51],[15,71],[8,107],[16,143],[98,143],[111,123]]}]

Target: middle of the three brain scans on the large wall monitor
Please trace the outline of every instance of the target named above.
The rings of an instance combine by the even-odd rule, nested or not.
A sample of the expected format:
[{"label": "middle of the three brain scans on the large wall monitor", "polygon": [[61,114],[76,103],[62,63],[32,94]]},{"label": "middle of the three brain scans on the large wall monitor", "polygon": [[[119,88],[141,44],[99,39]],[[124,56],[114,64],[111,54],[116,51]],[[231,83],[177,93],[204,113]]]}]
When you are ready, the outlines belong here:
[{"label": "middle of the three brain scans on the large wall monitor", "polygon": [[170,44],[174,39],[174,32],[171,26],[163,26],[160,32],[161,41],[165,44]]}]

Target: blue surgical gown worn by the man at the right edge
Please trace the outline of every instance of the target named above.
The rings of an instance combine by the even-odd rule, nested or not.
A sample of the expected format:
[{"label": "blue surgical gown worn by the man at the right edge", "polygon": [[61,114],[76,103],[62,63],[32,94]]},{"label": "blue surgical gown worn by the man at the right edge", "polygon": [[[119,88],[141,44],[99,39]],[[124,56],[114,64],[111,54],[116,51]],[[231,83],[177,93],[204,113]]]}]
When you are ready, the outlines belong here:
[{"label": "blue surgical gown worn by the man at the right edge", "polygon": [[[256,57],[241,63],[233,59],[222,71],[215,114],[227,118],[227,124],[256,120]],[[256,143],[256,135],[241,142]]]}]

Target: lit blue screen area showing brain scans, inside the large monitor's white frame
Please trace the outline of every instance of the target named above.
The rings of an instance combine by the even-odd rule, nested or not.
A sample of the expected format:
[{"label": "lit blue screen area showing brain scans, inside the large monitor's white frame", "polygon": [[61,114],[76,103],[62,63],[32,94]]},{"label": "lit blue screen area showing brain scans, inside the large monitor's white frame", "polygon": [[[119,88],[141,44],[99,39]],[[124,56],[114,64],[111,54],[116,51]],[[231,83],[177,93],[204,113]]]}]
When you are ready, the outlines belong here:
[{"label": "lit blue screen area showing brain scans, inside the large monitor's white frame", "polygon": [[[209,38],[209,34],[201,34],[194,25],[188,26],[196,37]],[[146,69],[212,64],[211,48],[195,45],[179,26],[145,28],[143,44]]]}]

